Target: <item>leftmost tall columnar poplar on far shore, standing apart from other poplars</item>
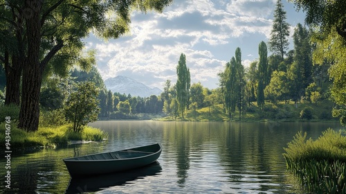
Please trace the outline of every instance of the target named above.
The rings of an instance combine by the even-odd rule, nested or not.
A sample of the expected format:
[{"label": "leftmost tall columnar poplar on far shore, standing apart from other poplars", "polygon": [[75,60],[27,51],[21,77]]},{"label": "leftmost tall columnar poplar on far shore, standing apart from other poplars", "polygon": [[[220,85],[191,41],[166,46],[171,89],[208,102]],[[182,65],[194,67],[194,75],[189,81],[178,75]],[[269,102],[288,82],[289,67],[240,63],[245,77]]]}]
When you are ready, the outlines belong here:
[{"label": "leftmost tall columnar poplar on far shore, standing apart from other poplars", "polygon": [[186,67],[186,57],[181,53],[178,66],[176,67],[176,100],[179,103],[181,117],[184,118],[185,109],[188,107],[190,90],[190,69]]}]

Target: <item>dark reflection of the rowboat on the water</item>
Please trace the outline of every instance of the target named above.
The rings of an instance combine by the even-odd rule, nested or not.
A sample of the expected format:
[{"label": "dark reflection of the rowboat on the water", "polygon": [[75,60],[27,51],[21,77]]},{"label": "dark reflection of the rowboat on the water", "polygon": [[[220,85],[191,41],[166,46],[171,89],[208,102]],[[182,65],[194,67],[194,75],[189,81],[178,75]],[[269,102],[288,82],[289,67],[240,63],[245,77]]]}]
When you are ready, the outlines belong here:
[{"label": "dark reflection of the rowboat on the water", "polygon": [[72,178],[66,189],[66,193],[88,193],[104,190],[111,186],[125,185],[147,176],[154,176],[162,172],[161,165],[155,161],[148,166],[127,170],[120,173],[98,175],[94,177]]}]

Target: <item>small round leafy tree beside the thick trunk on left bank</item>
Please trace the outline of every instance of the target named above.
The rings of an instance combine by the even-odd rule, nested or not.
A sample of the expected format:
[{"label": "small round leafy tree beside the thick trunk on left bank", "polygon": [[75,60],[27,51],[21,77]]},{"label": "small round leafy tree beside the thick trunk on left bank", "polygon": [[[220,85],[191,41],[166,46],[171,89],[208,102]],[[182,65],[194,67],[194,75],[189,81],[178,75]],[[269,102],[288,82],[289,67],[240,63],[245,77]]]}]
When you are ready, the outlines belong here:
[{"label": "small round leafy tree beside the thick trunk on left bank", "polygon": [[87,123],[96,121],[98,107],[98,89],[93,82],[82,82],[66,102],[66,118],[73,123],[73,131],[80,132]]}]

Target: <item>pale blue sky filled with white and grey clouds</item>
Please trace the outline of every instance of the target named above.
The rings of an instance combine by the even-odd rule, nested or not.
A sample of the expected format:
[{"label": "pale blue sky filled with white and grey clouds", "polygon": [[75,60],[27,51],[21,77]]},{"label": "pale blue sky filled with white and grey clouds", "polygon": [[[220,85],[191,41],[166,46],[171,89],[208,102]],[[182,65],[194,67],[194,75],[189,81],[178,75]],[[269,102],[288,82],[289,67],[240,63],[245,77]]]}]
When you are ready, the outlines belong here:
[{"label": "pale blue sky filled with white and grey clouds", "polygon": [[[276,0],[175,0],[162,13],[133,12],[131,32],[103,42],[90,35],[86,48],[95,48],[104,80],[127,76],[149,87],[163,89],[165,80],[176,82],[176,66],[186,55],[191,82],[218,87],[217,73],[242,49],[242,64],[258,58],[258,44],[268,42]],[[282,0],[287,22],[304,24],[304,13]],[[290,37],[291,39],[291,37]],[[291,41],[290,47],[293,48]],[[270,54],[270,52],[269,52]]]}]

